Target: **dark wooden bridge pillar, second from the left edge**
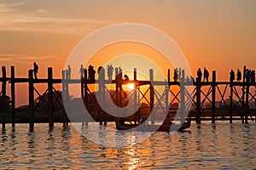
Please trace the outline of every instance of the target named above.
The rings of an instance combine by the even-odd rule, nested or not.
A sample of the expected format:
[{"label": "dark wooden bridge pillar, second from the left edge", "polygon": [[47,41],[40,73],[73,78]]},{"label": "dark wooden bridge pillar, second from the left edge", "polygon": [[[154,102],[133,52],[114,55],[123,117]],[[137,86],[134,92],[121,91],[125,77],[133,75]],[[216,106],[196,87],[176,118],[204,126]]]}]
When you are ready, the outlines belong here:
[{"label": "dark wooden bridge pillar, second from the left edge", "polygon": [[11,66],[12,127],[15,127],[15,66]]}]

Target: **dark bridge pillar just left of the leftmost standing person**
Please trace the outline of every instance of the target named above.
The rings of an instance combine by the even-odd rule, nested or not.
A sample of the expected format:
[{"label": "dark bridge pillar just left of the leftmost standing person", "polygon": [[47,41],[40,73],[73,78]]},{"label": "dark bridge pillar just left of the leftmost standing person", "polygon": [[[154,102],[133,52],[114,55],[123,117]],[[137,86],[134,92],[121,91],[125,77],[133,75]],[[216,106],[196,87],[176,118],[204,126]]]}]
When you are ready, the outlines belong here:
[{"label": "dark bridge pillar just left of the leftmost standing person", "polygon": [[28,71],[28,99],[29,99],[29,130],[33,131],[34,128],[34,82],[33,70]]}]

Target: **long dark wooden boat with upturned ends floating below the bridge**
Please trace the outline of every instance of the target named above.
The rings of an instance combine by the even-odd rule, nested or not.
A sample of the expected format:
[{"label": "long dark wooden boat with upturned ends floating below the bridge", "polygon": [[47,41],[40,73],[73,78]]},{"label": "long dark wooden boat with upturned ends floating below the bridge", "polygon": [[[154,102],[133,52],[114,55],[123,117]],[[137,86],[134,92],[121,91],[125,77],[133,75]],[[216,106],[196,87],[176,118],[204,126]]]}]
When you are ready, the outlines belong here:
[{"label": "long dark wooden boat with upturned ends floating below the bridge", "polygon": [[160,132],[170,132],[171,131],[177,131],[177,130],[184,130],[191,126],[190,119],[187,122],[183,122],[182,125],[176,124],[175,122],[172,122],[171,125],[151,125],[151,124],[126,124],[125,122],[122,122],[119,120],[119,118],[116,118],[115,120],[115,126],[118,130],[131,130],[131,131],[143,131],[143,132],[154,132],[154,131],[160,131]]}]

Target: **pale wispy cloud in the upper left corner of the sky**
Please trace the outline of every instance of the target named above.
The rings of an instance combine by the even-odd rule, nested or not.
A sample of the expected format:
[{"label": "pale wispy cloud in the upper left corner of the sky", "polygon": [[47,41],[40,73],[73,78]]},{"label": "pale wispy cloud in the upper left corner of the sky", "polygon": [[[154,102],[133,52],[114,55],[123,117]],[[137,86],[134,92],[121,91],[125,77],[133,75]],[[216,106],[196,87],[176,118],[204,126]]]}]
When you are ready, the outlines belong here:
[{"label": "pale wispy cloud in the upper left corner of the sky", "polygon": [[61,17],[46,8],[20,9],[27,5],[20,3],[0,3],[0,31],[55,31],[62,33],[82,33],[94,31],[95,26],[110,24],[109,21]]}]

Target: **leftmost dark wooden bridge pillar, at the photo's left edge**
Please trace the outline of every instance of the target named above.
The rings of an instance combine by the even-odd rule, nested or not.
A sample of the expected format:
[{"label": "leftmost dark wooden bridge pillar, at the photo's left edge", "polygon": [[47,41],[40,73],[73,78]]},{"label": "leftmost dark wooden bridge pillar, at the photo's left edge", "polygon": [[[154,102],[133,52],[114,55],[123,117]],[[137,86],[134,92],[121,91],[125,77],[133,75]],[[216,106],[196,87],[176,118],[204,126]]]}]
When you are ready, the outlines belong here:
[{"label": "leftmost dark wooden bridge pillar, at the photo's left edge", "polygon": [[2,82],[2,98],[5,105],[3,105],[3,114],[2,114],[2,129],[5,129],[5,111],[6,107],[8,106],[8,101],[6,99],[6,69],[5,66],[2,66],[2,75],[3,75],[3,82]]}]

